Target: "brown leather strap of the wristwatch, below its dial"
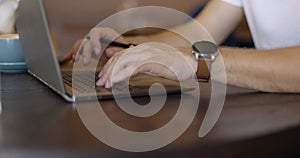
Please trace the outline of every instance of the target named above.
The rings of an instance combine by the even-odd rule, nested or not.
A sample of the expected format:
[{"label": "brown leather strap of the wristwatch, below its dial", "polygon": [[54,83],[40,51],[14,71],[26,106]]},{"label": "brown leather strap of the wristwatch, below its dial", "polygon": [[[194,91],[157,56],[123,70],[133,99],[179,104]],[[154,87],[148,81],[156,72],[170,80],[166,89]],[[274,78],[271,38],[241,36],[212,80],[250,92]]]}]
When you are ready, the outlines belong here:
[{"label": "brown leather strap of the wristwatch, below its dial", "polygon": [[208,82],[210,79],[211,61],[200,59],[198,60],[197,78],[201,82]]}]

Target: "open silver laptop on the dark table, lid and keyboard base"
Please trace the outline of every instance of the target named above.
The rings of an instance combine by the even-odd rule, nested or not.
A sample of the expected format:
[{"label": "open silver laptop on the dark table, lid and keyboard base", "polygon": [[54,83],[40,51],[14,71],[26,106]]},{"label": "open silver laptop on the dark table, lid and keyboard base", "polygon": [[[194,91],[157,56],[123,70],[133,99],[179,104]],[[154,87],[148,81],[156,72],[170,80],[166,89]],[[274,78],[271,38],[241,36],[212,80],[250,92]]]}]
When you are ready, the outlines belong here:
[{"label": "open silver laptop on the dark table, lid and keyboard base", "polygon": [[116,96],[148,96],[150,87],[151,94],[156,95],[194,89],[149,74],[139,74],[129,82],[116,84],[113,89],[105,89],[95,85],[96,71],[62,70],[51,38],[43,0],[20,1],[16,25],[28,72],[69,102],[113,99]]}]

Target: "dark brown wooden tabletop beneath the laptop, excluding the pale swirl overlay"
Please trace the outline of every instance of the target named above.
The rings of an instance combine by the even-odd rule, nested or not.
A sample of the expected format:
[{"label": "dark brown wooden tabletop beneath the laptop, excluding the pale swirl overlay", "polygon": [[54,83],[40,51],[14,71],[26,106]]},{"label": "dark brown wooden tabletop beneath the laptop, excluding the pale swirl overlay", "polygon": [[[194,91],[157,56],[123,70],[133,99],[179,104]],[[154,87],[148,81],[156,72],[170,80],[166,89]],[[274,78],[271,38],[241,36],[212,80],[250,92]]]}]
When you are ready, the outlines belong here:
[{"label": "dark brown wooden tabletop beneath the laptop, excluding the pale swirl overlay", "polygon": [[[0,157],[290,157],[299,153],[300,95],[228,87],[222,114],[204,138],[197,136],[209,102],[209,84],[200,83],[197,116],[170,145],[145,153],[123,152],[96,139],[76,108],[27,73],[1,74]],[[137,102],[147,102],[145,97]],[[178,109],[170,95],[152,118],[126,115],[114,100],[101,106],[120,126],[147,131],[163,126]],[[101,120],[99,120],[101,121]],[[144,122],[144,123],[143,123]]]}]

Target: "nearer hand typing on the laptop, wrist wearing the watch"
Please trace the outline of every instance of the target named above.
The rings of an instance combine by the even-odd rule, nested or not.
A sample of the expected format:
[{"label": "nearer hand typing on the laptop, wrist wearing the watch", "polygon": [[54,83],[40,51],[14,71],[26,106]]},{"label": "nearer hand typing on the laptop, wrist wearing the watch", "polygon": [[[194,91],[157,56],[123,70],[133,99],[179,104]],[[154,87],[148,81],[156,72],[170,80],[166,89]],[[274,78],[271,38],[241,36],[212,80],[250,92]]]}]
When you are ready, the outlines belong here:
[{"label": "nearer hand typing on the laptop, wrist wearing the watch", "polygon": [[96,84],[111,88],[115,83],[142,72],[179,81],[192,78],[197,61],[190,49],[180,51],[159,43],[145,43],[123,50],[109,59]]}]

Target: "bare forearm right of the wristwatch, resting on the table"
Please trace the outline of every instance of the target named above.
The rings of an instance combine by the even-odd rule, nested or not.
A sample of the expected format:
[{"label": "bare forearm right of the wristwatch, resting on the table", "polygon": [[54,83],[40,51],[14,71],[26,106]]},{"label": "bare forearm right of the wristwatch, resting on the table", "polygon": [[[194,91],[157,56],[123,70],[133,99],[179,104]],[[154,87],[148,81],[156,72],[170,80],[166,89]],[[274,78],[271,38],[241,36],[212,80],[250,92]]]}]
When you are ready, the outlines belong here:
[{"label": "bare forearm right of the wristwatch, resting on the table", "polygon": [[227,83],[266,92],[300,92],[300,47],[257,51],[220,48]]}]

